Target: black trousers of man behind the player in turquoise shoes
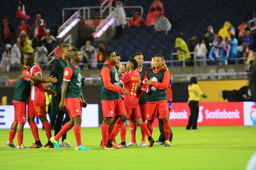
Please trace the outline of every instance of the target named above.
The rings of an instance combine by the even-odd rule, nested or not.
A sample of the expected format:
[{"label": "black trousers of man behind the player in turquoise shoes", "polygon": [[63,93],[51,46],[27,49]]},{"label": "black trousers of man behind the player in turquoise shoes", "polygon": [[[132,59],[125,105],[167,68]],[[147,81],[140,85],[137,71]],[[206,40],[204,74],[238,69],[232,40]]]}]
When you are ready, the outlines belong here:
[{"label": "black trousers of man behind the player in turquoise shoes", "polygon": [[[70,115],[68,114],[66,108],[60,109],[58,107],[61,102],[61,94],[57,94],[57,96],[54,97],[54,100],[55,100],[55,108],[56,108],[56,113],[57,113],[55,126],[54,126],[54,136],[56,136],[59,133],[59,131],[61,130],[62,125],[64,125],[65,123],[70,121]],[[53,98],[52,98],[52,103],[53,103]],[[65,115],[65,119],[63,120],[64,115]],[[62,136],[61,142],[63,142],[64,139],[67,139],[67,133],[65,133]]]}]

